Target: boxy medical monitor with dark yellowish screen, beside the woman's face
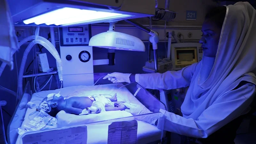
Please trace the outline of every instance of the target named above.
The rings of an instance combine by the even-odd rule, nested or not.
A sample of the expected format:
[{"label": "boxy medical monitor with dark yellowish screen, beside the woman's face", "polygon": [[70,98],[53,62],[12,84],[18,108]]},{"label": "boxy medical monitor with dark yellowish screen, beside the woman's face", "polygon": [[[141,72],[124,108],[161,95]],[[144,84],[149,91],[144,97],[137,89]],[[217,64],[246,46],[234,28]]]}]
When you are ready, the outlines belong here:
[{"label": "boxy medical monitor with dark yellowish screen, beside the woman's face", "polygon": [[172,70],[180,70],[203,58],[200,43],[175,43],[171,45]]}]

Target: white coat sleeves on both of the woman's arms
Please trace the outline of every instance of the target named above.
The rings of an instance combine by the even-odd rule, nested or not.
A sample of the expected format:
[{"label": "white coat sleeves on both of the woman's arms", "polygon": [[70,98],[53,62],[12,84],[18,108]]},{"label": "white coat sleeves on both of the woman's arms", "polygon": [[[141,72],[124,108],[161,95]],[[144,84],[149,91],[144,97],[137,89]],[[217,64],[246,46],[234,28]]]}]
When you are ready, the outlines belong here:
[{"label": "white coat sleeves on both of the woman's arms", "polygon": [[[135,79],[137,83],[148,89],[169,90],[187,87],[191,82],[195,68],[196,64],[193,64],[180,71],[167,71],[164,74],[136,74]],[[241,78],[242,80],[244,78]],[[196,120],[160,109],[164,116],[158,118],[157,127],[181,135],[206,138],[228,122],[248,112],[248,106],[252,102],[255,92],[255,85],[250,83],[229,91],[205,109]]]}]

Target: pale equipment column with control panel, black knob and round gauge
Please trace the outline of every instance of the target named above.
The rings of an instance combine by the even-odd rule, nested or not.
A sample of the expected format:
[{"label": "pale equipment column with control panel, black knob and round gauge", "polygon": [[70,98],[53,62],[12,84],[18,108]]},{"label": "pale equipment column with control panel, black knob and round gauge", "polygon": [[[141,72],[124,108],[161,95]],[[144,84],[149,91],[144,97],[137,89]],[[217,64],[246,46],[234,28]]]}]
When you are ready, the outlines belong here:
[{"label": "pale equipment column with control panel, black knob and round gauge", "polygon": [[91,25],[59,28],[63,87],[93,85]]}]

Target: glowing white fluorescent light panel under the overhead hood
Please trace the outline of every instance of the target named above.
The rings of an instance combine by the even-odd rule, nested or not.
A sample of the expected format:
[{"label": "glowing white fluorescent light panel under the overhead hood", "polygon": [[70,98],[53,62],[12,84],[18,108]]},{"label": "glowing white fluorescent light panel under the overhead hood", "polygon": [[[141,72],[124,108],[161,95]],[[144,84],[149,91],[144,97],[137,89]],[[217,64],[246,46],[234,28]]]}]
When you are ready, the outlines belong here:
[{"label": "glowing white fluorescent light panel under the overhead hood", "polygon": [[24,20],[25,24],[35,23],[40,25],[45,23],[46,25],[67,25],[77,22],[108,20],[122,17],[129,17],[132,15],[111,13],[111,12],[97,12],[92,10],[81,10],[76,8],[61,8],[52,12],[48,12],[28,20]]}]

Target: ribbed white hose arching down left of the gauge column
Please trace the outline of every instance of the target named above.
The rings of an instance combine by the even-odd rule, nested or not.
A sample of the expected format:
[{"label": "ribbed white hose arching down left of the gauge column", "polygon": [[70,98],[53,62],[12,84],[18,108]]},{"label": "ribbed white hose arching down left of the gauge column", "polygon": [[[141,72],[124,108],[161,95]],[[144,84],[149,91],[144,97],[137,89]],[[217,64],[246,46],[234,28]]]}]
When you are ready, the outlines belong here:
[{"label": "ribbed white hose arching down left of the gauge column", "polygon": [[22,76],[23,76],[23,72],[24,72],[27,56],[28,56],[29,51],[31,50],[31,48],[35,44],[43,45],[53,55],[53,57],[56,59],[59,79],[60,79],[60,81],[63,81],[62,61],[60,59],[59,53],[57,52],[56,48],[52,45],[52,43],[50,43],[44,37],[38,36],[38,40],[33,40],[28,45],[28,47],[26,48],[26,50],[25,50],[25,52],[23,54],[23,58],[22,58],[21,65],[20,65],[19,80],[18,80],[18,88],[19,88],[19,94],[20,95],[23,93],[22,92]]}]

